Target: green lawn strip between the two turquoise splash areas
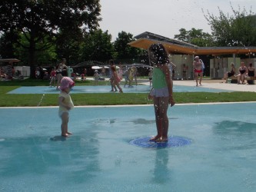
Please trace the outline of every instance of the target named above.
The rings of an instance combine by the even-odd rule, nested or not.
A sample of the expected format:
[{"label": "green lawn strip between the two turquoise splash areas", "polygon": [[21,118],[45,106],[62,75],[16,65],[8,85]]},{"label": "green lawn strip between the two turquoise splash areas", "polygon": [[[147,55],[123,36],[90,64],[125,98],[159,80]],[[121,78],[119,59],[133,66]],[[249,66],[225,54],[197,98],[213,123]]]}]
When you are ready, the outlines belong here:
[{"label": "green lawn strip between the two turquoise splash areas", "polygon": [[[20,86],[48,86],[48,81],[0,81],[0,107],[23,106],[57,106],[58,94],[7,94]],[[76,86],[93,85],[94,81],[76,81]],[[109,84],[108,81],[99,81],[99,84]],[[116,104],[152,104],[145,93],[103,93],[103,94],[72,94],[75,105],[116,105]],[[174,93],[178,104],[209,103],[209,102],[241,102],[256,101],[254,92],[185,92]],[[42,102],[41,102],[42,101]]]}]

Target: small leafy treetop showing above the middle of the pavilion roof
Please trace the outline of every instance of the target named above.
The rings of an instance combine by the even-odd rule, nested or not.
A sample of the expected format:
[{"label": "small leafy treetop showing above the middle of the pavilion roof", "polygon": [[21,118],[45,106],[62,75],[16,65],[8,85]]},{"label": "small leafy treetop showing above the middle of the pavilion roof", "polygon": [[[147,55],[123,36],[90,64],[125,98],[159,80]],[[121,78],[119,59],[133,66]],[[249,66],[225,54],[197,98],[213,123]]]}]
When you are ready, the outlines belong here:
[{"label": "small leafy treetop showing above the middle of the pavilion roof", "polygon": [[199,47],[210,47],[214,45],[214,40],[210,34],[203,32],[202,29],[191,28],[187,31],[185,28],[181,28],[179,35],[175,35],[180,41],[188,42]]}]

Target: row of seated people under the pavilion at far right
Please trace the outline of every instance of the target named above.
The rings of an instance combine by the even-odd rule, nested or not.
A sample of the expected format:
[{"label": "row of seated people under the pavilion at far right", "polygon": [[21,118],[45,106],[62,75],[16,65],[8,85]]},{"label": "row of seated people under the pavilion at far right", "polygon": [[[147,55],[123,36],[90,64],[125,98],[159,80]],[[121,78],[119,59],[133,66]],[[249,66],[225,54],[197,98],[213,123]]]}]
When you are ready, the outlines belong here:
[{"label": "row of seated people under the pavilion at far right", "polygon": [[[248,67],[245,66],[244,61],[241,61],[241,66],[238,68],[238,73],[236,72],[236,68],[234,63],[231,63],[231,71],[228,71],[224,74],[224,82],[228,81],[228,78],[232,76],[238,79],[238,84],[245,84],[245,80],[248,78],[254,78],[255,76],[255,68],[252,63],[249,64]],[[254,79],[247,80],[248,84],[253,84]]]}]

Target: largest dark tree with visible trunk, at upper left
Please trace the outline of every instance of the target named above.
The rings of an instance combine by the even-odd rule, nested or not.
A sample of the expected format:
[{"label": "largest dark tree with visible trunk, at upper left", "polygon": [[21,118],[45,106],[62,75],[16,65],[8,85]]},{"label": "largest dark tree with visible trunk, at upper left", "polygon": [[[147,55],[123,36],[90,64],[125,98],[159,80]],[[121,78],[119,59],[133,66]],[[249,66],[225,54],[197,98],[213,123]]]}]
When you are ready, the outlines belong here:
[{"label": "largest dark tree with visible trunk, at upper left", "polygon": [[[0,28],[3,32],[25,35],[28,46],[20,40],[17,42],[28,49],[28,64],[35,78],[35,52],[50,48],[60,28],[69,28],[69,31],[81,28],[83,33],[98,28],[99,12],[99,0],[2,0]],[[41,47],[36,47],[38,42],[43,42]]]}]

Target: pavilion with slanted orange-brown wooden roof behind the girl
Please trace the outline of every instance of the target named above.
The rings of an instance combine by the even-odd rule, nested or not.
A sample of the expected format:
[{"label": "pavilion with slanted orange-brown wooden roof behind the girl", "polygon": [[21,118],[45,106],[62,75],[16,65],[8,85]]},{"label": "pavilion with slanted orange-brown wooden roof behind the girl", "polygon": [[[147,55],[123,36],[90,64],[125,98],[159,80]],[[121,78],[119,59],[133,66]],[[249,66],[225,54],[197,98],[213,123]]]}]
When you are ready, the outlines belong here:
[{"label": "pavilion with slanted orange-brown wooden roof behind the girl", "polygon": [[[211,55],[208,66],[210,67],[211,78],[222,78],[225,71],[228,71],[229,63],[234,62],[235,65],[240,65],[240,58],[236,55],[254,55],[256,47],[198,47],[183,41],[178,41],[171,38],[166,38],[161,35],[156,35],[145,31],[140,35],[135,36],[135,41],[131,41],[128,45],[135,48],[148,49],[154,43],[161,43],[165,46],[168,54],[171,55],[171,61],[178,65],[178,71],[182,70],[181,65],[188,63],[189,74],[193,76],[191,63],[195,55]],[[221,58],[221,55],[232,55],[231,58]],[[256,58],[251,58],[250,62],[256,66]]]}]

